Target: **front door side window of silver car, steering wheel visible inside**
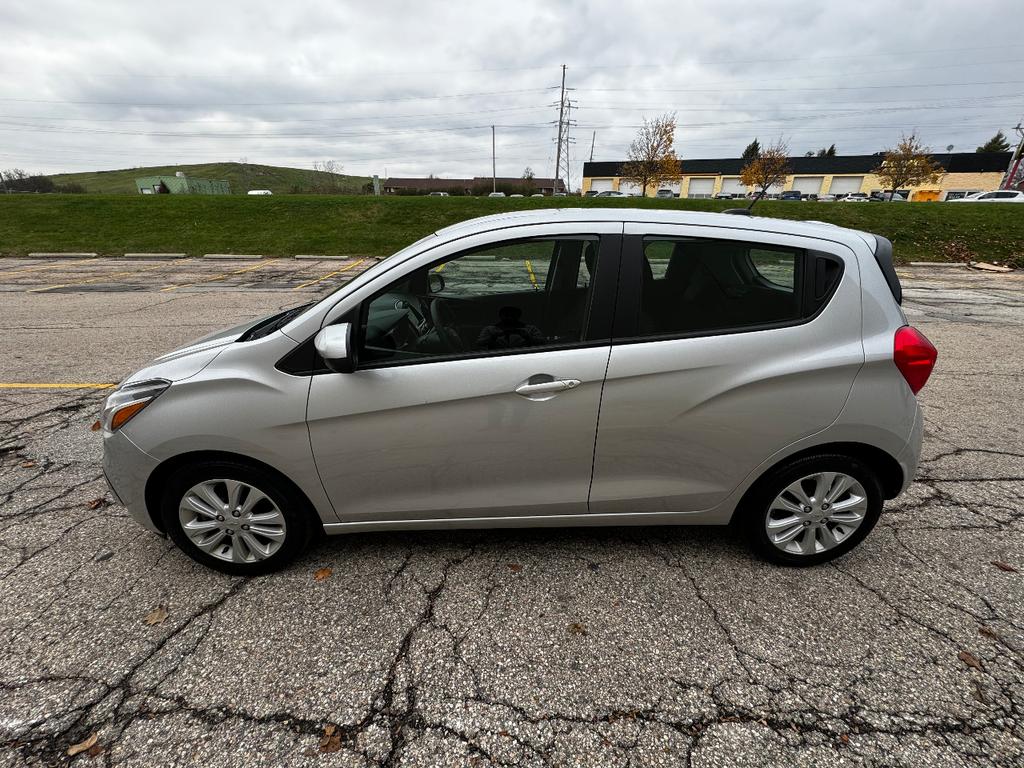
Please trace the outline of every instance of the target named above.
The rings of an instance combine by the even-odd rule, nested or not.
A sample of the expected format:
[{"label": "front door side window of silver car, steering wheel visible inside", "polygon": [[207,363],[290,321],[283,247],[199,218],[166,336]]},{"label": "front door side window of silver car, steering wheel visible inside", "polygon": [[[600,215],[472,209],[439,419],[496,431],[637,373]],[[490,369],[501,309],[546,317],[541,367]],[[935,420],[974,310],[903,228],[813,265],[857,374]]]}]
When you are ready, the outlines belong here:
[{"label": "front door side window of silver car, steering wheel visible inside", "polygon": [[583,341],[596,237],[499,243],[421,267],[361,311],[359,367]]}]

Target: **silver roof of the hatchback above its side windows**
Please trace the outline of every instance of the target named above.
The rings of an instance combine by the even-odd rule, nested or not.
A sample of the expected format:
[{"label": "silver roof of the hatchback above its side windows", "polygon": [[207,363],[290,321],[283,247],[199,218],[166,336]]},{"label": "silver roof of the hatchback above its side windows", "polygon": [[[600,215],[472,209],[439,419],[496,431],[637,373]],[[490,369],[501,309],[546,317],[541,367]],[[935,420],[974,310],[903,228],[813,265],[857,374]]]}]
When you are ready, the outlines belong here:
[{"label": "silver roof of the hatchback above its side windows", "polygon": [[447,241],[515,226],[587,223],[589,221],[688,224],[690,226],[750,229],[751,231],[819,238],[847,245],[867,243],[873,250],[871,236],[821,221],[792,221],[766,216],[736,216],[703,211],[666,211],[657,208],[542,208],[535,211],[508,211],[460,221],[457,224],[438,229],[435,234],[439,239]]}]

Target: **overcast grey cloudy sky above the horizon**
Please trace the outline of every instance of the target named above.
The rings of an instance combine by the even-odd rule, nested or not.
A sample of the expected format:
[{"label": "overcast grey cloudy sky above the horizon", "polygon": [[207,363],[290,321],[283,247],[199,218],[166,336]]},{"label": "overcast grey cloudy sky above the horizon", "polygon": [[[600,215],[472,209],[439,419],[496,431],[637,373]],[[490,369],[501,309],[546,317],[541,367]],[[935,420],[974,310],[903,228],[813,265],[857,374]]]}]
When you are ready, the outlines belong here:
[{"label": "overcast grey cloudy sky above the horizon", "polygon": [[237,161],[346,173],[554,170],[675,112],[676,151],[973,152],[1024,113],[1017,2],[32,0],[0,5],[0,168]]}]

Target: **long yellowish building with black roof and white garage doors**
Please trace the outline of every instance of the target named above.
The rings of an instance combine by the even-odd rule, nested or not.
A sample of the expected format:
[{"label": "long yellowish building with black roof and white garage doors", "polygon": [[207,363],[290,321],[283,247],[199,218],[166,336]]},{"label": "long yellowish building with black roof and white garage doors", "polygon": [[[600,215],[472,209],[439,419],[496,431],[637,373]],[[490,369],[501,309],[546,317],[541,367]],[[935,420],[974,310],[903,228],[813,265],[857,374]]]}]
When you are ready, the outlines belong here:
[{"label": "long yellowish building with black roof and white garage doors", "polygon": [[[943,174],[934,184],[922,184],[901,191],[912,201],[954,200],[974,191],[995,189],[1010,165],[1011,153],[955,153],[934,155]],[[801,195],[850,195],[883,191],[882,181],[873,171],[882,162],[879,155],[850,155],[831,158],[790,158],[792,173],[785,183],[769,189],[770,195],[797,190]],[[640,187],[622,178],[624,162],[584,163],[583,191],[605,189],[640,195]],[[745,165],[740,158],[680,161],[679,178],[662,188],[670,188],[681,198],[713,198],[716,195],[746,195],[751,191],[739,180]],[[645,193],[653,196],[656,188]]]}]

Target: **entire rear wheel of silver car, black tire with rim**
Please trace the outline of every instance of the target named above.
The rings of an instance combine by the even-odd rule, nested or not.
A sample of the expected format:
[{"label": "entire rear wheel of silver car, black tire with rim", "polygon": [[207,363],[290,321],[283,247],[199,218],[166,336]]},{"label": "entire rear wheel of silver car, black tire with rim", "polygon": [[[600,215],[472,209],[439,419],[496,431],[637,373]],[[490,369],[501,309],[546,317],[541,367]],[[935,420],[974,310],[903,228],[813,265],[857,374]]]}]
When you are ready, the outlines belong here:
[{"label": "entire rear wheel of silver car, black tire with rim", "polygon": [[[829,488],[835,508],[814,493],[828,482],[830,474],[837,475]],[[853,484],[843,490],[847,480],[839,475],[852,479]],[[818,478],[823,478],[822,486]],[[797,493],[791,490],[795,487]],[[822,502],[824,509],[819,507]],[[765,474],[743,500],[738,521],[758,555],[779,565],[802,567],[835,560],[860,544],[879,521],[882,504],[882,483],[868,465],[849,456],[821,454],[797,459]],[[859,522],[854,519],[857,514],[862,515]]]}]

